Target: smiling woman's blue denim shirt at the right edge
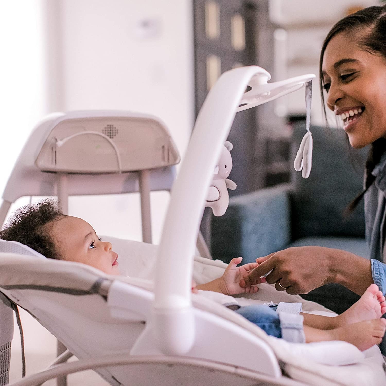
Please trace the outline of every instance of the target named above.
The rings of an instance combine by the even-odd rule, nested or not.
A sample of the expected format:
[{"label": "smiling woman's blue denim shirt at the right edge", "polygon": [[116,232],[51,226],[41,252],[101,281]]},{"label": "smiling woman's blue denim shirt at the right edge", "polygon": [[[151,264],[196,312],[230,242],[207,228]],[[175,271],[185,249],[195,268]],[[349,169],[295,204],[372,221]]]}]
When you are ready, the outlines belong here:
[{"label": "smiling woman's blue denim shirt at the right edge", "polygon": [[372,171],[376,177],[364,195],[366,240],[370,248],[371,273],[374,283],[386,293],[386,264],[384,264],[386,219],[386,152]]}]

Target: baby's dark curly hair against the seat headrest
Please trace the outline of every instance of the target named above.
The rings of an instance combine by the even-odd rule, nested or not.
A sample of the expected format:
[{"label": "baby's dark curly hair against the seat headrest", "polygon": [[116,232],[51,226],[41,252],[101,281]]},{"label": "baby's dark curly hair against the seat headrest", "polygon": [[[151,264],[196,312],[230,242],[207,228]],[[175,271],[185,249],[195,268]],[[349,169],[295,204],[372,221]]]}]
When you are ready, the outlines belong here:
[{"label": "baby's dark curly hair against the seat headrest", "polygon": [[18,241],[49,259],[62,259],[51,236],[52,223],[66,217],[52,199],[16,210],[0,230],[0,239]]}]

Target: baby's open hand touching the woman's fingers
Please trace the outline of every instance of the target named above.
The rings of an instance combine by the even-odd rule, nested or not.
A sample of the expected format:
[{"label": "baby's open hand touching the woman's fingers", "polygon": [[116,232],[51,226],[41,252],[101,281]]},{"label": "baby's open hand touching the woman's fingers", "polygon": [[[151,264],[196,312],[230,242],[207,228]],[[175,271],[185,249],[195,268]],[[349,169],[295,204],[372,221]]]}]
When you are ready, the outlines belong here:
[{"label": "baby's open hand touching the woman's fingers", "polygon": [[[256,268],[258,263],[248,263],[240,267],[237,267],[237,264],[240,264],[242,257],[235,257],[230,261],[225,269],[224,274],[221,276],[220,288],[223,294],[225,295],[236,295],[239,293],[256,293],[259,291],[257,284],[252,286],[247,286],[245,288],[240,287],[240,280],[244,279],[248,275],[249,271]],[[265,278],[259,279],[260,283],[265,282]]]}]

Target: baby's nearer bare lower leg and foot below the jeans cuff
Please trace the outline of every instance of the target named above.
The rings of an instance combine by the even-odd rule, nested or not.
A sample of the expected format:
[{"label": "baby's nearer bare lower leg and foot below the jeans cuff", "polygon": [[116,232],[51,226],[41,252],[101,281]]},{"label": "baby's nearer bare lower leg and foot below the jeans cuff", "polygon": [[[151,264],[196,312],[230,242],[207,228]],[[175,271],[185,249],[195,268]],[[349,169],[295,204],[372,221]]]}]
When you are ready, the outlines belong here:
[{"label": "baby's nearer bare lower leg and foot below the jeans cuff", "polygon": [[386,330],[386,319],[365,320],[353,323],[344,327],[332,330],[319,330],[309,326],[304,326],[306,342],[321,342],[326,340],[344,340],[359,350],[364,351],[379,344]]}]

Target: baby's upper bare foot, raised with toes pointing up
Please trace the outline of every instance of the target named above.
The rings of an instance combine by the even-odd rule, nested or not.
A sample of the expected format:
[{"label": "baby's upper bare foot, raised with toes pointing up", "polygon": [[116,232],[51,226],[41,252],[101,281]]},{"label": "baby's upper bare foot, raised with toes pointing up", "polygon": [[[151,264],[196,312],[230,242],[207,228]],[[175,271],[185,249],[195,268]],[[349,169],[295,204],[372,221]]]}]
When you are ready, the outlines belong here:
[{"label": "baby's upper bare foot, raised with toes pointing up", "polygon": [[361,298],[337,316],[337,327],[380,318],[386,312],[385,298],[376,284],[371,284]]}]

